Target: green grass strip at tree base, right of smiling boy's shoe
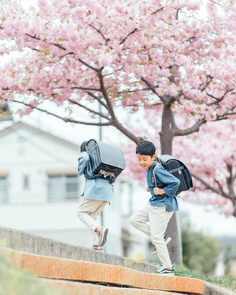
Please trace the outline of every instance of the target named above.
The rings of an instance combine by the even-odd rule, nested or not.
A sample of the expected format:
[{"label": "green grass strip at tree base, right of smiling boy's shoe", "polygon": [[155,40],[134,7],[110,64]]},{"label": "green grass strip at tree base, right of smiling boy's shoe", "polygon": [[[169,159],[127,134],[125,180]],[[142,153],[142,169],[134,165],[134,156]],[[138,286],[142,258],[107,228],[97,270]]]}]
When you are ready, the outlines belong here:
[{"label": "green grass strip at tree base, right of smiling boy's shoe", "polygon": [[212,283],[213,285],[226,288],[230,291],[234,291],[236,294],[236,277],[230,277],[230,276],[216,277],[216,276],[204,275],[202,273],[189,270],[183,267],[183,265],[174,264],[173,268],[175,270],[175,276],[197,278],[197,279]]}]

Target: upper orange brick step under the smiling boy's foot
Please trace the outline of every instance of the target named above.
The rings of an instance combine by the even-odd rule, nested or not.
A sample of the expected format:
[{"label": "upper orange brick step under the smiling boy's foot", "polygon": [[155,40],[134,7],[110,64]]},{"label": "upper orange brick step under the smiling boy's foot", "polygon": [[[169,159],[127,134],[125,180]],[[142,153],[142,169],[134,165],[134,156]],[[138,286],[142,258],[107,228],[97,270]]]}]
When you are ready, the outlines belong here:
[{"label": "upper orange brick step under the smiling boy's foot", "polygon": [[108,283],[181,294],[204,294],[204,281],[195,278],[162,276],[117,265],[42,256],[6,247],[3,247],[3,251],[8,260],[39,277]]}]

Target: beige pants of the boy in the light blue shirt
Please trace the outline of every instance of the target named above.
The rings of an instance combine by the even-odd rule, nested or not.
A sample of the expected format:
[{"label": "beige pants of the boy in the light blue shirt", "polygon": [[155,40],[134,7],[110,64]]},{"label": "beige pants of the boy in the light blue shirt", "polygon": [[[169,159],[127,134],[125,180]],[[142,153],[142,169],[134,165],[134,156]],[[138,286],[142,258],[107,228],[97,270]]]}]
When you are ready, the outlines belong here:
[{"label": "beige pants of the boy in the light blue shirt", "polygon": [[97,220],[107,203],[107,201],[84,199],[81,197],[81,204],[77,216],[90,229],[92,245],[98,245],[98,237],[95,229],[100,225]]}]

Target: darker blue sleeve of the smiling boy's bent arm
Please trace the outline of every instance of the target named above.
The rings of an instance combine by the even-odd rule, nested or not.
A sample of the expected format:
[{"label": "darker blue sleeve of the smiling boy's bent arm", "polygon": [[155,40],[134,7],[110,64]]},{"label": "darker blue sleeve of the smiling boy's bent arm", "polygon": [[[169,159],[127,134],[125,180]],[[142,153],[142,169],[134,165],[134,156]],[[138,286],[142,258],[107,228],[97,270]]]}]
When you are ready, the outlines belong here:
[{"label": "darker blue sleeve of the smiling boy's bent arm", "polygon": [[160,168],[158,169],[158,171],[155,170],[155,172],[158,173],[157,177],[159,177],[159,179],[162,182],[166,183],[166,186],[163,188],[163,190],[168,196],[174,197],[180,185],[180,181],[170,172],[166,171],[164,167],[162,166],[159,166],[159,167]]}]

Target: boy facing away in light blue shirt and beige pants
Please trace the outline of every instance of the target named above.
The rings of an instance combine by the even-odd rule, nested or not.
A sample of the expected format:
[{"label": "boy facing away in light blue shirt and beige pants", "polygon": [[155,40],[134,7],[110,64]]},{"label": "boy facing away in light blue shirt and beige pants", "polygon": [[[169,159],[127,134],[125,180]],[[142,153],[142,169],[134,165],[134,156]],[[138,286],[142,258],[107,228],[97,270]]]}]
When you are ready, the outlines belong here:
[{"label": "boy facing away in light blue shirt and beige pants", "polygon": [[[93,175],[89,170],[89,155],[86,152],[86,143],[87,141],[83,141],[80,146],[81,154],[78,158],[78,175],[84,173],[91,177]],[[113,190],[112,183],[106,179],[98,177],[94,179],[85,178],[77,216],[90,229],[93,250],[104,252],[103,245],[106,243],[108,228],[101,226],[97,220],[106,204],[111,202]]]}]

